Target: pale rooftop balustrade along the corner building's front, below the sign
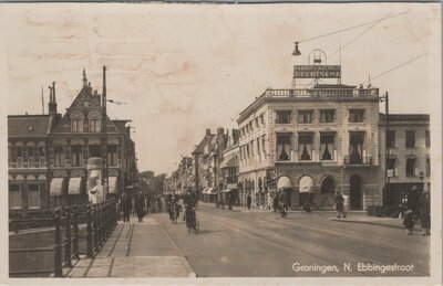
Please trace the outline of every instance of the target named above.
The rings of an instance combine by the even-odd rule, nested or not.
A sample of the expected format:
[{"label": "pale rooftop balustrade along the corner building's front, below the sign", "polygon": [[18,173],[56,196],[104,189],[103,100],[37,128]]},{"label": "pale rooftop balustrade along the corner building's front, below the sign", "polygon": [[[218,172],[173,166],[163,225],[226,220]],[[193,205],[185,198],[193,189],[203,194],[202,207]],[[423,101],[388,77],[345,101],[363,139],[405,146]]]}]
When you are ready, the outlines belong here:
[{"label": "pale rooftop balustrade along the corner building's front, below the sign", "polygon": [[267,89],[267,97],[378,97],[379,88]]}]

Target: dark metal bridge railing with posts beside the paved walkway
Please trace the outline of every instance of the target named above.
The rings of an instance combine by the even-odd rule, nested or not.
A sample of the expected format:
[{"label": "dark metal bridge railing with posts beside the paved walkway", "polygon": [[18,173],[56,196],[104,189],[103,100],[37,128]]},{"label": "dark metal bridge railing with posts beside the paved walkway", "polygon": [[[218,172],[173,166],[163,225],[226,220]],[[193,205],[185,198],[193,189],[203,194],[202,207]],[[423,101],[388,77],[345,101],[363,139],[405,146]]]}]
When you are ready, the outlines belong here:
[{"label": "dark metal bridge railing with posts beside the paved walkway", "polygon": [[[79,209],[85,210],[79,212]],[[111,236],[117,221],[117,209],[116,200],[111,199],[105,202],[83,205],[83,208],[63,206],[58,208],[53,212],[51,219],[13,219],[10,220],[10,229],[13,229],[14,233],[21,231],[21,224],[29,223],[45,223],[51,226],[45,227],[45,231],[53,232],[53,244],[45,246],[34,247],[16,247],[9,250],[10,262],[11,255],[14,256],[16,261],[19,262],[20,269],[9,269],[11,277],[21,276],[35,276],[35,275],[52,275],[54,277],[63,277],[63,268],[71,268],[73,266],[73,259],[79,261],[80,254],[85,254],[87,257],[94,257],[104,242]],[[86,232],[86,235],[82,235],[82,231]],[[33,230],[34,231],[34,230]],[[39,230],[35,230],[39,232]],[[42,231],[42,230],[40,230]],[[80,250],[80,244],[85,244],[85,253]],[[43,256],[53,255],[53,265],[44,269],[35,268],[21,268],[20,259],[23,259],[25,255],[32,255],[32,253],[41,253]],[[19,255],[19,256],[17,256]],[[38,261],[35,263],[39,263]],[[33,265],[38,266],[38,265]],[[24,266],[23,266],[24,267]]]}]

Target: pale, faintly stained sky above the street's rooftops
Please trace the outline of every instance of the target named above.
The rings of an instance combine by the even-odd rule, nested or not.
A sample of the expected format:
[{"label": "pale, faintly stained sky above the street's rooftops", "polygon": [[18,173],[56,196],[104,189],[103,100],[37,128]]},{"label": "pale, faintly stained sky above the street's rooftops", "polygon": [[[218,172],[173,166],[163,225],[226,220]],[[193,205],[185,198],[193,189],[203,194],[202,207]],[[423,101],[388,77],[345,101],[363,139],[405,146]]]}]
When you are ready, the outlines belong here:
[{"label": "pale, faintly stained sky above the street's rooftops", "polygon": [[[392,15],[291,55],[295,41]],[[290,88],[292,65],[308,64],[313,49],[351,85],[425,54],[371,84],[389,92],[391,113],[440,115],[439,3],[1,4],[0,19],[2,113],[41,114],[41,87],[48,112],[55,82],[63,114],[83,68],[101,93],[106,65],[107,97],[126,103],[107,104],[107,114],[132,120],[140,171],[171,173],[206,128],[235,128],[267,87]],[[341,56],[331,55],[340,43]]]}]

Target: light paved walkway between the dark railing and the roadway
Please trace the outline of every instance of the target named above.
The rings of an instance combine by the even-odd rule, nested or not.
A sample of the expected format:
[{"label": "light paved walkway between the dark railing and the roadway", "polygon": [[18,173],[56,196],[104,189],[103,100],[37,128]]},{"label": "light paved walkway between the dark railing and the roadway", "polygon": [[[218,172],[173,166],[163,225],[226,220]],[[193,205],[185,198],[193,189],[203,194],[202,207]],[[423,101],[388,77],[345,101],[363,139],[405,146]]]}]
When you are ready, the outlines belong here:
[{"label": "light paved walkway between the dark railing and the roadway", "polygon": [[195,277],[181,250],[152,218],[119,222],[94,258],[81,259],[65,276],[80,277]]}]

